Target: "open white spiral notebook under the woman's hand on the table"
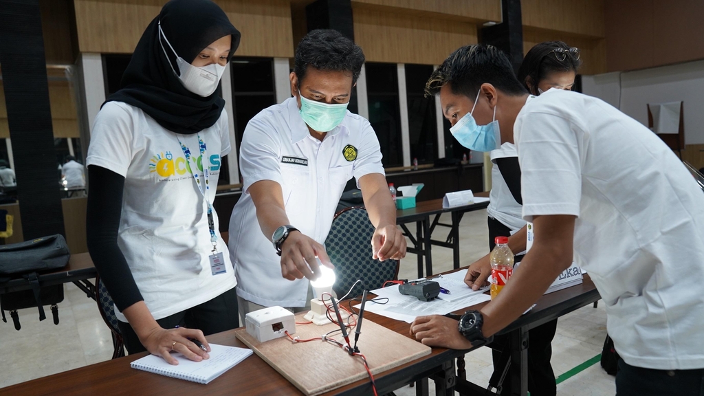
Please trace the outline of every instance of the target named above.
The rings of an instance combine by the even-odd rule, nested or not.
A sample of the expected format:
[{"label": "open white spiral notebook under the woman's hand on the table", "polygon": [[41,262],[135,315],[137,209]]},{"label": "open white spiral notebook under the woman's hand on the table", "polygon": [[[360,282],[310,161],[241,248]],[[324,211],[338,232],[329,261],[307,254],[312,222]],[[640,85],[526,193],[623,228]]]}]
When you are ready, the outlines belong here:
[{"label": "open white spiral notebook under the woman's hand on the table", "polygon": [[132,361],[132,369],[149,371],[172,378],[189,380],[196,383],[210,383],[220,374],[232,369],[240,361],[252,354],[251,349],[227,347],[210,344],[210,359],[191,361],[180,353],[172,354],[178,360],[178,365],[168,364],[163,358],[150,354],[142,359]]}]

